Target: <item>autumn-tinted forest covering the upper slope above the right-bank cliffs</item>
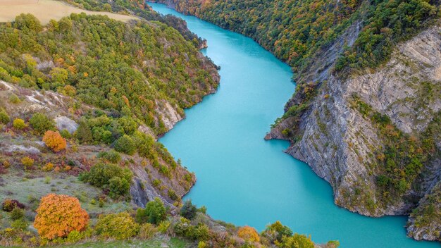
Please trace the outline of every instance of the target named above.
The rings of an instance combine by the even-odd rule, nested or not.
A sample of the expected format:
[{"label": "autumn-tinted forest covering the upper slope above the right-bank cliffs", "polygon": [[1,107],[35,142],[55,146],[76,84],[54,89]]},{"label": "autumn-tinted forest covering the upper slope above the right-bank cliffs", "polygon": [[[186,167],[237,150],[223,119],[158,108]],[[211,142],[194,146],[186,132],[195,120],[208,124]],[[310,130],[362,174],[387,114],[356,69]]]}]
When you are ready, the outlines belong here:
[{"label": "autumn-tinted forest covering the upper slope above the right-bank cliffs", "polygon": [[411,37],[439,13],[435,0],[172,2],[182,13],[252,37],[295,72],[308,66],[317,51],[328,48],[351,24],[361,25],[362,30],[336,69],[378,66],[389,58],[393,44]]}]

